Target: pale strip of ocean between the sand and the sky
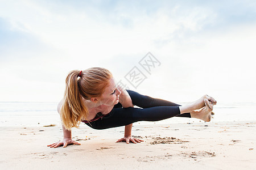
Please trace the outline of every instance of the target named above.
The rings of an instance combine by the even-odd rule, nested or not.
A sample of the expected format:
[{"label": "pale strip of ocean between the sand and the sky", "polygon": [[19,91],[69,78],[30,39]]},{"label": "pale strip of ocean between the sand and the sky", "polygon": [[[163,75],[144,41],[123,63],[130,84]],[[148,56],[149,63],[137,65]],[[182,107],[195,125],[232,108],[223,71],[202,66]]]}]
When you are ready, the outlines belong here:
[{"label": "pale strip of ocean between the sand and the sky", "polygon": [[[186,103],[181,103],[185,105]],[[214,105],[212,121],[255,121],[256,103],[218,103]],[[195,118],[172,117],[157,122],[136,122],[135,124],[175,124],[200,122]],[[203,122],[203,121],[201,121]],[[61,126],[54,102],[0,102],[0,126]],[[83,124],[83,123],[82,123]]]}]

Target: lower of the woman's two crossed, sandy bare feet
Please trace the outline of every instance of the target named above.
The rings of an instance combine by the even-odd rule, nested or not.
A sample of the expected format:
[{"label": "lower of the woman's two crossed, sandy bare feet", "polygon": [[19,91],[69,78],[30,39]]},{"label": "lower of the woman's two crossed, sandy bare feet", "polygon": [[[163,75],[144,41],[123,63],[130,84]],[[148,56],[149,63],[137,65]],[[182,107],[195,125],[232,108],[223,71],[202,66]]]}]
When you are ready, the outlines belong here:
[{"label": "lower of the woman's two crossed, sandy bare feet", "polygon": [[208,99],[204,99],[204,102],[206,106],[200,111],[191,112],[191,117],[199,118],[203,121],[209,122],[212,119],[213,103],[210,102]]}]

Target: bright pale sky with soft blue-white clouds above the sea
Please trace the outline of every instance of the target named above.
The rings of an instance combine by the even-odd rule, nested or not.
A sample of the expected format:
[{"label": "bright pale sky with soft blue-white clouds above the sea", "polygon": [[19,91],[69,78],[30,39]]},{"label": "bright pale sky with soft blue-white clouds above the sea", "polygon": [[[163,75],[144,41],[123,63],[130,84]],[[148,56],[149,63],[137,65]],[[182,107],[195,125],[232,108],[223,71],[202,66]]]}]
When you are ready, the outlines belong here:
[{"label": "bright pale sky with soft blue-white clouds above the sea", "polygon": [[0,0],[0,101],[56,102],[69,71],[105,67],[143,95],[255,103],[255,30],[255,1]]}]

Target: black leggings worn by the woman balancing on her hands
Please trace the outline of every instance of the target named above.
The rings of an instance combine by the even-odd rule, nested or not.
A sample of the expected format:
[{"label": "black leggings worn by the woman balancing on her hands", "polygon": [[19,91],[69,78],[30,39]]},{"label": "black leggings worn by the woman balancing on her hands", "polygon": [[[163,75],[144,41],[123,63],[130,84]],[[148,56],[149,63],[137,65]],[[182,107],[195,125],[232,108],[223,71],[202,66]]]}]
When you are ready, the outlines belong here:
[{"label": "black leggings worn by the woman balancing on her hands", "polygon": [[191,117],[190,113],[180,114],[179,104],[141,95],[132,90],[126,91],[130,95],[133,105],[140,108],[122,108],[121,103],[118,103],[114,105],[108,115],[85,124],[93,129],[108,129],[138,121],[160,121],[174,116]]}]

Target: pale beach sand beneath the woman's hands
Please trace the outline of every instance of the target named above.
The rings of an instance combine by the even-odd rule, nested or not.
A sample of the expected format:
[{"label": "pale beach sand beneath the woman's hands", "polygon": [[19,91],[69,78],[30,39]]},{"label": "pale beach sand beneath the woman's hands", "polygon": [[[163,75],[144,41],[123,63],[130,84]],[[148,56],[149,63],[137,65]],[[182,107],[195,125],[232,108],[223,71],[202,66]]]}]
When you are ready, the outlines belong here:
[{"label": "pale beach sand beneath the woman's hands", "polygon": [[73,129],[81,145],[50,148],[60,126],[1,127],[1,169],[254,169],[256,121],[134,124],[142,143],[115,143],[124,127]]}]

